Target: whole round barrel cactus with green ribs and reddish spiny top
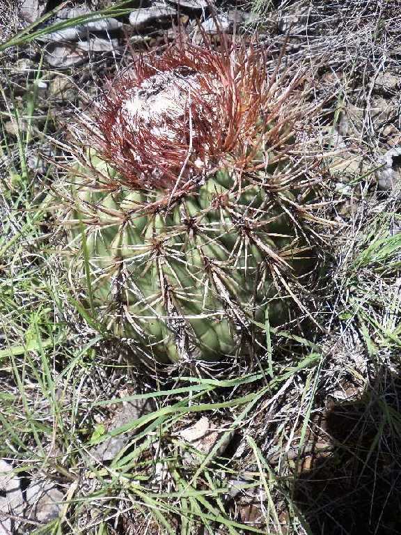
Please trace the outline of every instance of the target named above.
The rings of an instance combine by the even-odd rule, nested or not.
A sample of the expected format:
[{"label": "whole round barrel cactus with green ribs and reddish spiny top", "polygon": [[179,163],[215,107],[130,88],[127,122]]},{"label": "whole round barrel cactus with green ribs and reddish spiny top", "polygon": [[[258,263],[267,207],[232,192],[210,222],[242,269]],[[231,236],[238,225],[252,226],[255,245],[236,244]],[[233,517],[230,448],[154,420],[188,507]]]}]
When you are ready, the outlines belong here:
[{"label": "whole round barrel cactus with green ribs and reddish spiny top", "polygon": [[142,54],[82,130],[62,192],[70,281],[156,362],[249,353],[267,317],[302,307],[320,186],[295,162],[299,79],[266,63],[244,45]]}]

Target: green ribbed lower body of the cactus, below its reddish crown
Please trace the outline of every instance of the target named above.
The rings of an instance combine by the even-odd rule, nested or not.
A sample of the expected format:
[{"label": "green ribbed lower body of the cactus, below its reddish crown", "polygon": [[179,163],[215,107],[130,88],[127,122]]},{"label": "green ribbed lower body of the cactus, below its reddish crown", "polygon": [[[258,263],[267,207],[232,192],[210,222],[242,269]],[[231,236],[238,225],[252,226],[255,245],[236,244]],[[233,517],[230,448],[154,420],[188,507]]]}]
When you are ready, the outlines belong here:
[{"label": "green ribbed lower body of the cactus, below its reddish crown", "polygon": [[[92,164],[104,168],[102,161]],[[150,355],[172,362],[235,355],[267,307],[272,324],[285,318],[285,301],[272,301],[277,290],[269,263],[290,272],[297,240],[288,216],[272,210],[264,190],[239,193],[230,173],[220,172],[159,212],[148,206],[165,192],[84,185],[73,192],[95,305],[115,334],[136,339]],[[72,269],[84,286],[79,224],[70,227],[70,238],[78,251]]]}]

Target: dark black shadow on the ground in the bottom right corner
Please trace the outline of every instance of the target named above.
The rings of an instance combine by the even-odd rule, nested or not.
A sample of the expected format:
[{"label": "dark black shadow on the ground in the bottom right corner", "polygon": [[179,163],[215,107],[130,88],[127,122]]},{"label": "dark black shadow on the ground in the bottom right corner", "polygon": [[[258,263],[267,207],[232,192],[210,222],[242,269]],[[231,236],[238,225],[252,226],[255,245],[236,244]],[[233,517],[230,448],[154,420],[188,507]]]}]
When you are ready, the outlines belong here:
[{"label": "dark black shadow on the ground in the bottom right corner", "polygon": [[333,454],[297,479],[312,535],[401,533],[401,379],[377,375],[359,401],[331,404],[322,428]]}]

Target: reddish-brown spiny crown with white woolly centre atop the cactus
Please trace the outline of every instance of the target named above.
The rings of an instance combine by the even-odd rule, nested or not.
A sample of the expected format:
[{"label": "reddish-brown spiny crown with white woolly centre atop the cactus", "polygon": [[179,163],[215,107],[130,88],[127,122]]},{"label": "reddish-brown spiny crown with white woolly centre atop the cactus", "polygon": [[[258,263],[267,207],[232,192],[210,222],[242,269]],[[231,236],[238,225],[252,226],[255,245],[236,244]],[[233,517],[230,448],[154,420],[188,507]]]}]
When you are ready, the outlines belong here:
[{"label": "reddish-brown spiny crown with white woolly centre atop the cactus", "polygon": [[188,192],[213,169],[254,168],[261,144],[281,148],[291,121],[265,63],[244,45],[141,55],[98,109],[100,154],[139,189]]}]

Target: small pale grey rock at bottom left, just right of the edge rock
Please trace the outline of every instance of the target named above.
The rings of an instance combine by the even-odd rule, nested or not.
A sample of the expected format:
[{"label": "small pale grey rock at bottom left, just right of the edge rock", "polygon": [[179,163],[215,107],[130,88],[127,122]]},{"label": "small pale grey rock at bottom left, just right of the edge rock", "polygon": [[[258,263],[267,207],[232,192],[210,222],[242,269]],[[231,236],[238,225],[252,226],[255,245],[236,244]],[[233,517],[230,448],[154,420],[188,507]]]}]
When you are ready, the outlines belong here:
[{"label": "small pale grey rock at bottom left, just right of the edge rock", "polygon": [[31,483],[26,489],[26,504],[29,517],[37,522],[47,523],[60,516],[64,494],[52,481]]}]

